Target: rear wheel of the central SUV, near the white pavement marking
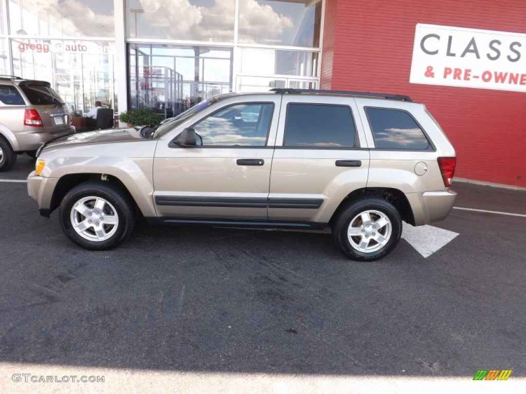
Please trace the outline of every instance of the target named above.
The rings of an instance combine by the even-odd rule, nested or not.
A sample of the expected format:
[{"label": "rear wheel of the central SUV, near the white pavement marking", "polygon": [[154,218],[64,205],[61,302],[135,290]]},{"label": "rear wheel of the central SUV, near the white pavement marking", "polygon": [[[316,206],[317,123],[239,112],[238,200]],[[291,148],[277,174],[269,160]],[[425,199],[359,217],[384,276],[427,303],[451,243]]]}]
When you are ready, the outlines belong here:
[{"label": "rear wheel of the central SUV, near the white pavement marking", "polygon": [[357,261],[375,261],[387,256],[398,244],[401,234],[402,220],[397,209],[378,197],[350,203],[332,224],[336,245]]}]

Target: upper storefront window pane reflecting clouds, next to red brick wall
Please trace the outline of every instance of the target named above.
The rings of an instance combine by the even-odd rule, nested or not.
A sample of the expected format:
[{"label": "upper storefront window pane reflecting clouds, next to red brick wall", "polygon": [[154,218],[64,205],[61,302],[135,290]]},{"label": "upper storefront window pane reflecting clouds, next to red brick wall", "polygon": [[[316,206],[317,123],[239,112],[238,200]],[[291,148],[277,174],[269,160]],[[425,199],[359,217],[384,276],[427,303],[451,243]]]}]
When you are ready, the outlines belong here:
[{"label": "upper storefront window pane reflecting clouds, next to red brick wall", "polygon": [[239,0],[239,42],[319,47],[321,1]]}]

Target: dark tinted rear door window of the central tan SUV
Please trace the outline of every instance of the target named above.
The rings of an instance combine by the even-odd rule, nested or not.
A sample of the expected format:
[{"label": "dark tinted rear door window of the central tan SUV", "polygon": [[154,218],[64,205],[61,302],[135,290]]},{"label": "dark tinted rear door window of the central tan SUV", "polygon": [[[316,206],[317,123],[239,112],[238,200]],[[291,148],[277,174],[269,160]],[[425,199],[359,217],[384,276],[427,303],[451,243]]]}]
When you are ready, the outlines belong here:
[{"label": "dark tinted rear door window of the central tan SUV", "polygon": [[285,124],[286,147],[352,148],[356,128],[347,106],[289,104]]}]

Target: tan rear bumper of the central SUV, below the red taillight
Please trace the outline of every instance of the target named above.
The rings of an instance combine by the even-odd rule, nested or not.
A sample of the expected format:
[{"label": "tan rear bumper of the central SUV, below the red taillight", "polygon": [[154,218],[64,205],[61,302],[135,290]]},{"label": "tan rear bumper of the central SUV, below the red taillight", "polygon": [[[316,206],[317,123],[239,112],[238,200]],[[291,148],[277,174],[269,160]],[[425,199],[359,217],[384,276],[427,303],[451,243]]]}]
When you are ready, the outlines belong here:
[{"label": "tan rear bumper of the central SUV, below the red taillight", "polygon": [[414,225],[421,226],[446,219],[457,198],[452,190],[406,194],[411,205]]}]

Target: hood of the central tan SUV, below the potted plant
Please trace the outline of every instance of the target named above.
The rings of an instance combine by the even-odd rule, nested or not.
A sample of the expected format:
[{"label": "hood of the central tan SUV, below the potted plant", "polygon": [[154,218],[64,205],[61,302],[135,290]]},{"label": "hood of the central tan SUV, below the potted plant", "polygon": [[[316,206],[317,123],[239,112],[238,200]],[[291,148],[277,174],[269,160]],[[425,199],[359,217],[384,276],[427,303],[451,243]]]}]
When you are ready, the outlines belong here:
[{"label": "hood of the central tan SUV, below the potted plant", "polygon": [[95,130],[76,133],[68,137],[52,140],[49,143],[46,143],[45,146],[49,148],[58,148],[65,146],[138,140],[145,140],[145,138],[140,135],[140,127],[126,127],[122,129]]}]

